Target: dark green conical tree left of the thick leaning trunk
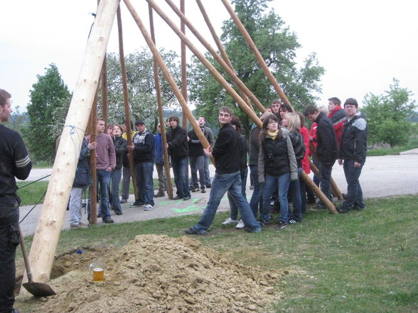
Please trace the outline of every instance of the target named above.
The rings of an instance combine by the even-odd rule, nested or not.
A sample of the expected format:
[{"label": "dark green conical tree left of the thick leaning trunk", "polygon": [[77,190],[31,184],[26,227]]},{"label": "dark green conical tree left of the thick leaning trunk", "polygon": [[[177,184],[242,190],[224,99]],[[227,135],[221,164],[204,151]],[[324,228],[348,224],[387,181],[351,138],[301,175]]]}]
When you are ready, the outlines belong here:
[{"label": "dark green conical tree left of the thick leaning trunk", "polygon": [[[31,102],[27,106],[29,122],[23,131],[33,160],[51,162],[55,157],[56,125],[63,125],[65,115],[57,116],[58,108],[70,105],[70,92],[64,84],[58,67],[51,63],[45,68],[45,75],[37,75],[38,82],[32,85]],[[55,128],[54,128],[55,127]]]}]

